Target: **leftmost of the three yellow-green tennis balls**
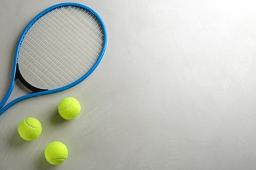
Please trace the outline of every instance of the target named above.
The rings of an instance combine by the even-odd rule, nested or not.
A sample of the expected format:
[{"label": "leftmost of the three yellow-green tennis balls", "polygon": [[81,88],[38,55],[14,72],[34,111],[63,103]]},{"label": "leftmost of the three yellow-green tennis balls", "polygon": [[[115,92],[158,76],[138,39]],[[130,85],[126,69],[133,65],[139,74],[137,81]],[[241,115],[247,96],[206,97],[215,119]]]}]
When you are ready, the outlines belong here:
[{"label": "leftmost of the three yellow-green tennis balls", "polygon": [[25,118],[18,125],[18,133],[22,139],[33,141],[42,133],[42,126],[36,118]]}]

